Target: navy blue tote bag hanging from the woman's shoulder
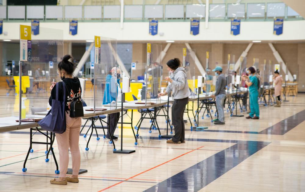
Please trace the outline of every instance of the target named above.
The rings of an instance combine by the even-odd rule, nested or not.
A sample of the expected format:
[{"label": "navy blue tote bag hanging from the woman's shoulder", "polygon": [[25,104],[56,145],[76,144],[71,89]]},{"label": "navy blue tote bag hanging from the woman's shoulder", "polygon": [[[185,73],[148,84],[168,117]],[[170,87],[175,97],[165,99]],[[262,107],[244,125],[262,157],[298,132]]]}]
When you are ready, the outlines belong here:
[{"label": "navy blue tote bag hanging from the woman's shoulder", "polygon": [[58,87],[59,83],[56,83],[56,99],[52,100],[51,110],[48,112],[45,118],[38,122],[38,125],[40,125],[40,127],[46,131],[61,134],[66,131],[66,86],[63,82],[63,101],[58,100]]}]

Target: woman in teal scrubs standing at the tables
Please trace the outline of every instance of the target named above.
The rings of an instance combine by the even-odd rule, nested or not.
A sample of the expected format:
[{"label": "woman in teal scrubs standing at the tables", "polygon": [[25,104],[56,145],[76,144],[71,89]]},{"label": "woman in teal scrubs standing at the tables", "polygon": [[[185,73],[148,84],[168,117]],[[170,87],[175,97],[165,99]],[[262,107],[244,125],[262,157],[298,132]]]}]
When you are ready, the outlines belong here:
[{"label": "woman in teal scrubs standing at the tables", "polygon": [[[255,75],[254,67],[249,67],[249,77],[242,75],[242,80],[245,81],[246,85],[249,87],[250,93],[250,114],[246,119],[259,119],[260,118],[260,108],[258,105],[258,78]],[[247,81],[249,79],[249,81]]]}]

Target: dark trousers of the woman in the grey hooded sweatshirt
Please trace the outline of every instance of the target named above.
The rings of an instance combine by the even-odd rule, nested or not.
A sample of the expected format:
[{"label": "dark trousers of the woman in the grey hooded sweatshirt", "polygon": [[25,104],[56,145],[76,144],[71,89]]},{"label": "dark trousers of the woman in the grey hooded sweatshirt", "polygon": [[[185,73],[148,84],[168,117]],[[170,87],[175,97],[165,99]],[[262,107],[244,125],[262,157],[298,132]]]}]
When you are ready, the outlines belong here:
[{"label": "dark trousers of the woman in the grey hooded sweatshirt", "polygon": [[188,104],[188,97],[184,99],[174,100],[174,104],[172,106],[172,122],[174,125],[175,135],[172,138],[172,141],[179,142],[184,141],[185,135],[185,126],[183,121],[183,114],[185,110],[185,106]]}]

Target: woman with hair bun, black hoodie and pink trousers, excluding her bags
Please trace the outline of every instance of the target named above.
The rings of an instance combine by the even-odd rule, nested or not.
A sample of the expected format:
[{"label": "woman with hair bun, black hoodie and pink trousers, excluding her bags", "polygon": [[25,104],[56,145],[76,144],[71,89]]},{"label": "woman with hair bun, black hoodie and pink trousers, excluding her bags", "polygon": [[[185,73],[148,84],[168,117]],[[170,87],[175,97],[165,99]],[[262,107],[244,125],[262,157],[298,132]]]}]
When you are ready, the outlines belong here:
[{"label": "woman with hair bun, black hoodie and pink trousers, excluding her bags", "polygon": [[[70,62],[70,55],[65,55],[63,60],[57,65],[57,70],[61,80],[65,83],[66,90],[63,90],[63,82],[59,82],[58,99],[63,101],[63,92],[66,92],[66,131],[62,134],[56,133],[57,145],[59,150],[59,178],[50,180],[51,184],[66,185],[67,182],[78,183],[78,172],[81,166],[81,153],[79,150],[79,133],[81,130],[81,117],[70,117],[70,103],[74,100],[81,100],[81,83],[77,77],[73,77],[76,68]],[[52,99],[56,98],[56,82],[52,82],[50,87],[51,96],[49,104],[52,106]],[[69,165],[69,148],[72,156],[73,175],[66,177]]]}]

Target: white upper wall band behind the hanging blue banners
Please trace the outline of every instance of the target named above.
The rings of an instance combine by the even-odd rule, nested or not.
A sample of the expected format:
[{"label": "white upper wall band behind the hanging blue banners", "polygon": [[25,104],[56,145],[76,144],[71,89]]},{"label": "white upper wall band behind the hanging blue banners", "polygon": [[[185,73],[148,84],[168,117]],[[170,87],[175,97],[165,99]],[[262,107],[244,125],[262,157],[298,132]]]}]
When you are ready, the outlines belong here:
[{"label": "white upper wall band behind the hanging blue banners", "polygon": [[[0,39],[19,39],[19,25],[30,23],[3,23],[3,31],[8,35],[0,35]],[[204,22],[200,23],[200,33],[196,36],[190,34],[190,22],[159,22],[158,32],[164,33],[149,35],[148,22],[125,22],[124,29],[119,22],[79,22],[78,34],[69,34],[69,22],[49,23],[41,22],[40,27],[48,27],[63,30],[64,40],[88,40],[94,39],[94,35],[116,38],[118,41],[296,41],[305,40],[305,20],[284,21],[282,35],[273,34],[273,21],[268,22],[241,22],[241,31],[237,36],[230,34],[230,22],[209,22],[209,28],[205,28]],[[42,31],[42,30],[41,30]],[[49,39],[50,35],[39,35],[40,39]]]}]

